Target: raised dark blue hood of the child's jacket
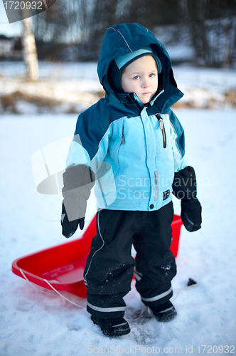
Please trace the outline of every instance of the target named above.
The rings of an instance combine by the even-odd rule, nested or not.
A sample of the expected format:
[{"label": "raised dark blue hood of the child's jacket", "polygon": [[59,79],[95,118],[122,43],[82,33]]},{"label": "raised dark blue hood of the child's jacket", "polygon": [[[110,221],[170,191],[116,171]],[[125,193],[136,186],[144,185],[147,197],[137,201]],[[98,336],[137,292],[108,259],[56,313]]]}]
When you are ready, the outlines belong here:
[{"label": "raised dark blue hood of the child's jacket", "polygon": [[176,80],[173,78],[171,59],[166,49],[153,33],[139,23],[121,23],[107,28],[104,33],[100,58],[97,64],[97,74],[104,90],[109,96],[110,103],[117,103],[117,97],[109,81],[107,73],[110,63],[114,58],[123,53],[137,51],[140,48],[151,46],[156,52],[162,65],[163,88],[164,92],[158,97],[159,110],[166,110],[182,98],[183,93],[178,90]]}]

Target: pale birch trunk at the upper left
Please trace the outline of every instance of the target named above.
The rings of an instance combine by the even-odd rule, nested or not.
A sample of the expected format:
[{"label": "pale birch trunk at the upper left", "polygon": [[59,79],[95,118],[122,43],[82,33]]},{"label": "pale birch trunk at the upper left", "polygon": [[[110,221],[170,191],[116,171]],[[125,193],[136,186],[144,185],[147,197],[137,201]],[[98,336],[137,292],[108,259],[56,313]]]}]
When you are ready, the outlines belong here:
[{"label": "pale birch trunk at the upper left", "polygon": [[23,59],[27,66],[27,77],[29,80],[38,79],[38,55],[36,40],[33,35],[32,19],[22,20],[23,23]]}]

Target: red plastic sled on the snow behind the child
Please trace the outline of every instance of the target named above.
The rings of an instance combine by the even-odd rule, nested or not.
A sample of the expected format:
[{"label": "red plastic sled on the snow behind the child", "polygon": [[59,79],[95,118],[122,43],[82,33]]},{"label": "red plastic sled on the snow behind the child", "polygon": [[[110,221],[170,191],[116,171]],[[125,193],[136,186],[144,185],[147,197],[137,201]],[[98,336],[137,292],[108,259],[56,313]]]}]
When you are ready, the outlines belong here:
[{"label": "red plastic sled on the snow behind the child", "polygon": [[[177,256],[182,225],[181,217],[173,216],[173,242],[171,251]],[[12,263],[12,271],[21,278],[43,288],[65,290],[86,298],[87,288],[83,281],[83,271],[93,236],[97,234],[96,219],[92,219],[80,239],[17,258]],[[48,281],[50,285],[46,282]]]}]

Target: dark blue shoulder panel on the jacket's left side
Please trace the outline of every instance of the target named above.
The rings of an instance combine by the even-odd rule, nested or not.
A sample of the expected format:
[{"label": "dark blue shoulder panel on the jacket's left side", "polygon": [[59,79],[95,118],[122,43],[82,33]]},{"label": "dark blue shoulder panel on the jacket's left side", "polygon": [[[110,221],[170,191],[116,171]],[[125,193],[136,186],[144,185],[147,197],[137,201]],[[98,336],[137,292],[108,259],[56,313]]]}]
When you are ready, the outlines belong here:
[{"label": "dark blue shoulder panel on the jacket's left side", "polygon": [[121,117],[124,115],[120,110],[109,105],[107,99],[100,99],[77,118],[74,141],[85,148],[92,160],[109,125]]}]

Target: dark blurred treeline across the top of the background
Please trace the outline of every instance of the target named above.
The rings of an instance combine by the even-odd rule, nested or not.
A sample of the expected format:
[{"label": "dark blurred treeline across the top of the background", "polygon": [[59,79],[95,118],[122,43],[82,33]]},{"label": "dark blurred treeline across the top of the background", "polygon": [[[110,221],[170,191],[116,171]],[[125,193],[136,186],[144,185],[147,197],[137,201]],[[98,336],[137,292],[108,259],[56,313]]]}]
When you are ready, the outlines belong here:
[{"label": "dark blurred treeline across the top of the background", "polygon": [[104,31],[122,22],[141,23],[157,37],[166,26],[166,41],[187,41],[196,65],[236,61],[236,0],[58,0],[33,17],[38,57],[97,61]]}]

